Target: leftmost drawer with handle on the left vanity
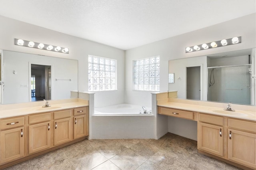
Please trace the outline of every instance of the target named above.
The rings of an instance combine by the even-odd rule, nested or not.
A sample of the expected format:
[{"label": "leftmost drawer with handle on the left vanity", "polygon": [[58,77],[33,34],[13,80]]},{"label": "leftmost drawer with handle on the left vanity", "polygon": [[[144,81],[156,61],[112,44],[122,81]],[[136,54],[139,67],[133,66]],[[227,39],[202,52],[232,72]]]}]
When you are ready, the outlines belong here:
[{"label": "leftmost drawer with handle on the left vanity", "polygon": [[1,120],[1,127],[0,129],[7,129],[7,128],[14,128],[24,126],[25,118],[24,117],[17,117],[11,119]]}]

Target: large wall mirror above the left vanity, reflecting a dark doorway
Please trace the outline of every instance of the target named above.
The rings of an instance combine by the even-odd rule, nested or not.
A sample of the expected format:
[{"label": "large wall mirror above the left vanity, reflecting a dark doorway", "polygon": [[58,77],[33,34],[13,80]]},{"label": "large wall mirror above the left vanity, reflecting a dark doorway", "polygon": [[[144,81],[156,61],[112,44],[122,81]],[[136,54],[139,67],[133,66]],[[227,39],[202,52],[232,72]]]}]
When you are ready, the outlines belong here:
[{"label": "large wall mirror above the left vanity, reflecting a dark doorway", "polygon": [[2,51],[2,104],[69,99],[78,91],[78,61]]}]

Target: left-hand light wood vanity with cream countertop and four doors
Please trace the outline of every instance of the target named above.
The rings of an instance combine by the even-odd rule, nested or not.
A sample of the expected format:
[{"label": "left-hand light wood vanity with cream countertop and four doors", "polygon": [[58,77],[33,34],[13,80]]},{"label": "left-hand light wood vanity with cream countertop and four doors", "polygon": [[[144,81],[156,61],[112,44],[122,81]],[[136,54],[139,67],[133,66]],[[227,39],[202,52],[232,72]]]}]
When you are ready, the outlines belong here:
[{"label": "left-hand light wood vanity with cream countertop and four doors", "polygon": [[0,169],[88,137],[88,101],[50,102],[51,107],[43,102],[1,106]]}]

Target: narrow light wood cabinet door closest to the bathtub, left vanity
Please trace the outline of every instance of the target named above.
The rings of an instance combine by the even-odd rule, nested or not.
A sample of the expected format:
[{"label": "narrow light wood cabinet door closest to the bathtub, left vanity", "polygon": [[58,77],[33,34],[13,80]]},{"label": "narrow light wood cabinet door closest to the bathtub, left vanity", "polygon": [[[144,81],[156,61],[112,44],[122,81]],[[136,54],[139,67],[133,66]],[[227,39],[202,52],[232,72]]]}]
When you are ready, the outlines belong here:
[{"label": "narrow light wood cabinet door closest to the bathtub, left vanity", "polygon": [[87,115],[74,117],[74,139],[88,136]]}]

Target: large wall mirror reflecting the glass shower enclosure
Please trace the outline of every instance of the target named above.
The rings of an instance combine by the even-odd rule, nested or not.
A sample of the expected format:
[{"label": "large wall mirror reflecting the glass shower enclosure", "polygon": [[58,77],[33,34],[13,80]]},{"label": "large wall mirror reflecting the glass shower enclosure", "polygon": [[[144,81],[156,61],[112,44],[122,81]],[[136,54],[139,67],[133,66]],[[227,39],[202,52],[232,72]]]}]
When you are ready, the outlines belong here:
[{"label": "large wall mirror reflecting the glass shower enclosure", "polygon": [[244,49],[169,61],[180,99],[255,105],[255,53]]}]

